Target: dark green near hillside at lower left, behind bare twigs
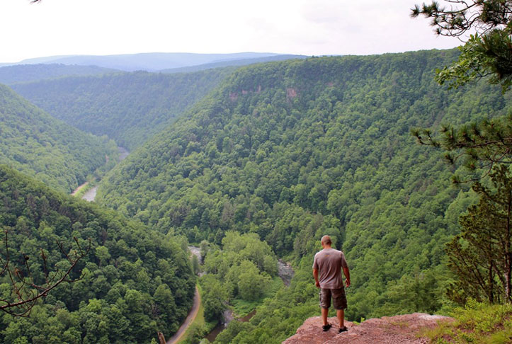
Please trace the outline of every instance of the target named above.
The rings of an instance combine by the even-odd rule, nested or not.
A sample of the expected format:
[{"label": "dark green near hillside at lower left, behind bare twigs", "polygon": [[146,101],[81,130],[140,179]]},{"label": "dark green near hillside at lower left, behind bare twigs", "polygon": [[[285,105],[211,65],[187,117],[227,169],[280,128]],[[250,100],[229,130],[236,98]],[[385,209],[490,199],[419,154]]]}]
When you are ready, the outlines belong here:
[{"label": "dark green near hillside at lower left, behind bare twigs", "polygon": [[[6,166],[0,166],[0,199],[2,264],[10,258],[16,275],[35,285],[45,282],[41,249],[51,275],[69,268],[57,241],[65,251],[76,250],[76,238],[86,250],[91,239],[69,276],[79,280],[57,286],[28,318],[0,312],[2,343],[149,343],[157,331],[169,336],[178,329],[195,285],[186,241],[57,193]],[[16,301],[7,273],[0,283],[1,299]]]}]

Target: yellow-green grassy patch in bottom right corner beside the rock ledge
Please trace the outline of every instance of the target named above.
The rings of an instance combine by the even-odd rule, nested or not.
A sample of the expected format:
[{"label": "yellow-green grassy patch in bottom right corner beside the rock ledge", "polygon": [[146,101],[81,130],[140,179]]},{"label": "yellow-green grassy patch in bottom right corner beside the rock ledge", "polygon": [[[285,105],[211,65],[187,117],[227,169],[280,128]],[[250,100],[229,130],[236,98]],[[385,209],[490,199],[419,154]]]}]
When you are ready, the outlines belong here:
[{"label": "yellow-green grassy patch in bottom right corner beside the rock ledge", "polygon": [[512,343],[512,304],[483,304],[470,301],[451,312],[453,323],[441,323],[421,336],[435,344]]}]

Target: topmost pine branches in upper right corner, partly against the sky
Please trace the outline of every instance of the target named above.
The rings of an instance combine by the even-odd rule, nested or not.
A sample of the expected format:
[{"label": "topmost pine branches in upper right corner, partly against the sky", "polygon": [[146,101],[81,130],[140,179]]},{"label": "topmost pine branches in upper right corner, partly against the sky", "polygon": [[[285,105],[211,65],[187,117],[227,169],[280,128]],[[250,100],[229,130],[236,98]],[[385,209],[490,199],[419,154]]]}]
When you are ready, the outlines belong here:
[{"label": "topmost pine branches in upper right corner, partly against the sky", "polygon": [[470,30],[475,35],[465,45],[457,62],[438,71],[438,81],[450,81],[460,86],[468,81],[491,75],[491,81],[504,90],[512,85],[512,1],[509,0],[445,0],[430,5],[416,5],[411,16],[431,19],[436,33],[443,36],[464,37]]}]

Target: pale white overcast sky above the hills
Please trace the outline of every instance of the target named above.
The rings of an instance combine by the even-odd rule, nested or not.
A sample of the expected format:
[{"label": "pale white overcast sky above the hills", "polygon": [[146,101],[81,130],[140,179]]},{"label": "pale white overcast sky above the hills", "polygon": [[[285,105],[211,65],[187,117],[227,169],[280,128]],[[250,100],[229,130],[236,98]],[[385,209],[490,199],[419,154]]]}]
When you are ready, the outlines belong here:
[{"label": "pale white overcast sky above the hills", "polygon": [[0,62],[137,52],[369,55],[460,45],[436,37],[425,18],[409,17],[421,2],[0,0]]}]

